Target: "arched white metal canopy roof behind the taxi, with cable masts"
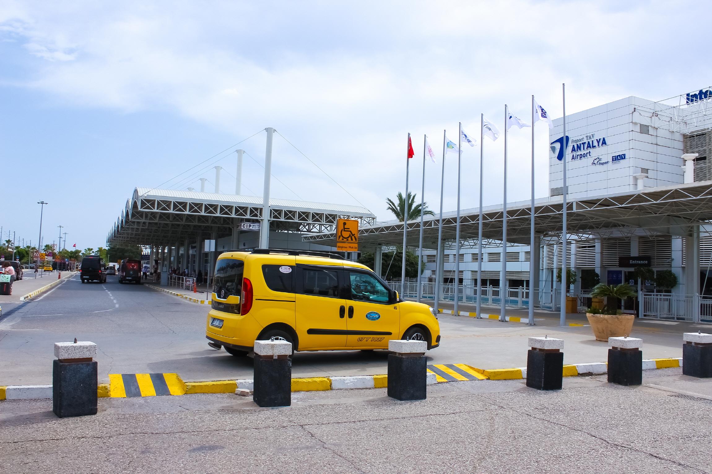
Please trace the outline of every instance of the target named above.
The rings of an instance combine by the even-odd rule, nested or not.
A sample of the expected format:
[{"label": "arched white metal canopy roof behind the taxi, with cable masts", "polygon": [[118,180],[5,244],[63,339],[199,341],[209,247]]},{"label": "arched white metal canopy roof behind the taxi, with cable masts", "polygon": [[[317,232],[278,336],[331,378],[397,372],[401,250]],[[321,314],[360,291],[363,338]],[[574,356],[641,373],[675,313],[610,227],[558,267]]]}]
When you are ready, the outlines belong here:
[{"label": "arched white metal canopy roof behind the taxi, with cable masts", "polygon": [[[109,245],[173,245],[199,233],[232,235],[237,219],[259,221],[262,198],[173,189],[136,188],[107,236]],[[337,218],[370,226],[376,216],[360,206],[270,199],[270,230],[335,231]]]}]

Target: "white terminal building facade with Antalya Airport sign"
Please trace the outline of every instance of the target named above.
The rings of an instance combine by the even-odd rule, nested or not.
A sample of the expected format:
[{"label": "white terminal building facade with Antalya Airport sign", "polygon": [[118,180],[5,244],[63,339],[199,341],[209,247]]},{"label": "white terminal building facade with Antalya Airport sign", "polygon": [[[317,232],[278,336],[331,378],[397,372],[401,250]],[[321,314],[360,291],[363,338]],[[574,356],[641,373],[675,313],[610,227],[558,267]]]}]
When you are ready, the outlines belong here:
[{"label": "white terminal building facade with Antalya Airport sign", "polygon": [[[676,186],[712,179],[712,90],[705,88],[669,100],[654,102],[628,97],[576,112],[553,121],[550,130],[549,196],[562,195],[562,160],[567,166],[567,197],[576,199],[634,192],[639,189]],[[562,144],[565,147],[562,150]],[[710,157],[710,161],[707,159]],[[575,293],[585,293],[582,275],[595,271],[603,283],[632,283],[632,268],[619,267],[619,257],[649,256],[653,270],[672,270],[679,284],[677,295],[711,294],[712,237],[701,226],[699,238],[700,288],[697,280],[686,275],[686,239],[690,237],[620,235],[578,238],[570,241],[567,256],[577,273]],[[560,289],[555,280],[560,267],[560,243],[542,241],[538,249],[540,290]],[[535,253],[535,255],[537,254]],[[436,253],[424,251],[424,276],[435,281]],[[511,289],[528,286],[529,246],[509,244],[507,279]],[[454,283],[454,250],[444,256],[444,280]],[[461,249],[459,281],[472,288],[477,284],[476,248]],[[499,286],[501,246],[483,249],[483,287]],[[712,275],[711,275],[712,276]],[[585,280],[587,280],[585,278]],[[694,284],[692,283],[694,282]],[[644,285],[644,291],[654,288]],[[465,292],[468,293],[467,291]]]}]

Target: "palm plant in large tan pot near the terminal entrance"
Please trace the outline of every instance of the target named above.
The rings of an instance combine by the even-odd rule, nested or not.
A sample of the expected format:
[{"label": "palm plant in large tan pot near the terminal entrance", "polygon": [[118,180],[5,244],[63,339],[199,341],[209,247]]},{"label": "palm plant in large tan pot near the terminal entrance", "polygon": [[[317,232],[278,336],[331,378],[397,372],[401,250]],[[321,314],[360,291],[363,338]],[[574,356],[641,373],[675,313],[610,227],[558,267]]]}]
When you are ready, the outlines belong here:
[{"label": "palm plant in large tan pot near the terminal entrance", "polygon": [[629,336],[633,328],[634,315],[619,314],[620,301],[636,295],[631,285],[606,285],[599,283],[591,290],[592,297],[602,297],[606,305],[602,310],[592,309],[586,312],[597,341],[608,342],[609,337]]}]

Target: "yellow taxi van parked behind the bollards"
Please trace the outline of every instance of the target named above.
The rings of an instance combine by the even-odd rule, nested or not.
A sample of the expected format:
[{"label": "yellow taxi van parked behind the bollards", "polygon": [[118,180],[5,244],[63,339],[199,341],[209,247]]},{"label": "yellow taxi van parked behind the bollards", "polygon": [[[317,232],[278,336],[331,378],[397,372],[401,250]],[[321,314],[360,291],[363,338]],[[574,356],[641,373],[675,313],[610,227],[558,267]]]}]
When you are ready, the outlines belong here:
[{"label": "yellow taxi van parked behind the bollards", "polygon": [[222,253],[215,265],[208,344],[245,356],[283,337],[293,351],[388,349],[390,339],[440,344],[431,307],[404,301],[365,265],[329,253]]}]

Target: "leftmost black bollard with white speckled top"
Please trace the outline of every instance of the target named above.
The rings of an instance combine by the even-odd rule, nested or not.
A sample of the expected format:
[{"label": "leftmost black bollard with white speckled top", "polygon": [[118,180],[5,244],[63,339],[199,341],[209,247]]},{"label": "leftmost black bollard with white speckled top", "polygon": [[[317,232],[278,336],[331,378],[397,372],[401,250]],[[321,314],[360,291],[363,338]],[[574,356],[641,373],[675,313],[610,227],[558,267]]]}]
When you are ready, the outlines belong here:
[{"label": "leftmost black bollard with white speckled top", "polygon": [[88,341],[56,342],[52,365],[52,411],[56,416],[95,415],[98,364],[96,344]]}]

